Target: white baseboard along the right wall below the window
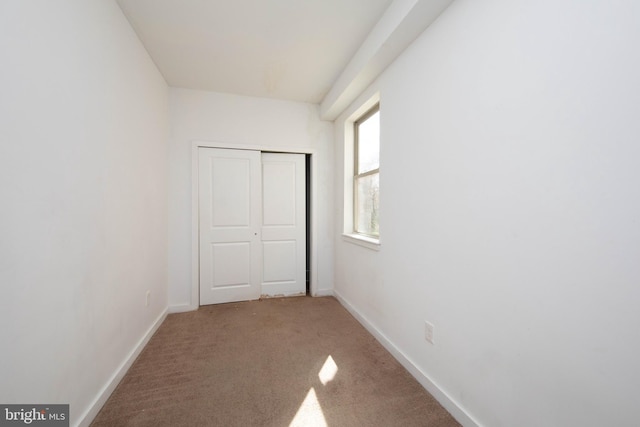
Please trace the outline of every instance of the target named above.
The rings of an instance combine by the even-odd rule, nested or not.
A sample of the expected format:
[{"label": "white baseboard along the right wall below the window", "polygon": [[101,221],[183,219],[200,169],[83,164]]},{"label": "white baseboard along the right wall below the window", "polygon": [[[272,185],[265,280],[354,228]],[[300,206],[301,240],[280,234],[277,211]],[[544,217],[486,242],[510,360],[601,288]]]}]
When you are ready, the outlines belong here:
[{"label": "white baseboard along the right wall below the window", "polygon": [[451,396],[445,393],[425,372],[413,363],[402,350],[375,327],[369,319],[363,316],[349,301],[340,295],[338,291],[334,290],[333,295],[460,424],[465,427],[480,427],[480,423],[474,420]]}]

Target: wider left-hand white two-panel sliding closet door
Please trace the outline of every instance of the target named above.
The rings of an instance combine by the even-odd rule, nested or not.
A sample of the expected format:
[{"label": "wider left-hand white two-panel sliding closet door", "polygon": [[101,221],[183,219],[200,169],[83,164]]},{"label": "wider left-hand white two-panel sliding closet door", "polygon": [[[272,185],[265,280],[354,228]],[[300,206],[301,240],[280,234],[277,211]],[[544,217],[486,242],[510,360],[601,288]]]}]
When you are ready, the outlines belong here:
[{"label": "wider left-hand white two-panel sliding closet door", "polygon": [[260,297],[261,155],[199,149],[200,304]]}]

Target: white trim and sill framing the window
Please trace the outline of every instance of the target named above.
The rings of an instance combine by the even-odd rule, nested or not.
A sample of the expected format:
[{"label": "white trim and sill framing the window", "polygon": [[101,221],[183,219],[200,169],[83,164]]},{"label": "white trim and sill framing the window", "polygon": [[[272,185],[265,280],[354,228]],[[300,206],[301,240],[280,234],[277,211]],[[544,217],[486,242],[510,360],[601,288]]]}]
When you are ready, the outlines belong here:
[{"label": "white trim and sill framing the window", "polygon": [[[380,250],[380,238],[356,233],[354,221],[354,123],[374,105],[380,103],[380,93],[376,93],[360,105],[344,122],[344,217],[342,240],[375,251]],[[382,159],[380,160],[382,163]]]}]

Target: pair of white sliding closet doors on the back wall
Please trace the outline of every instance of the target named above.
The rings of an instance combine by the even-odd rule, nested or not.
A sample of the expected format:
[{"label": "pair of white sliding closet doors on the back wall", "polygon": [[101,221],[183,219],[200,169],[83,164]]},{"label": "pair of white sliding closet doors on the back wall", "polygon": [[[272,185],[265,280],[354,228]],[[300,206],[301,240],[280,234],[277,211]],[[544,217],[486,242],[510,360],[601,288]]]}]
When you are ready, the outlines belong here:
[{"label": "pair of white sliding closet doors on the back wall", "polygon": [[304,295],[304,154],[199,149],[200,305]]}]

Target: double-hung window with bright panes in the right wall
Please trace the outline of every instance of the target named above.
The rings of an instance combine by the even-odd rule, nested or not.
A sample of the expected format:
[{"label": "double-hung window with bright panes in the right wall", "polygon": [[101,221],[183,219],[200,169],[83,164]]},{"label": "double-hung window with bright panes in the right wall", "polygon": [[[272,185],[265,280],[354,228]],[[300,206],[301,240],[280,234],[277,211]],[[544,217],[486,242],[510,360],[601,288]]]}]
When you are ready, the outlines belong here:
[{"label": "double-hung window with bright panes in the right wall", "polygon": [[353,228],[357,234],[379,238],[380,105],[354,123]]}]

